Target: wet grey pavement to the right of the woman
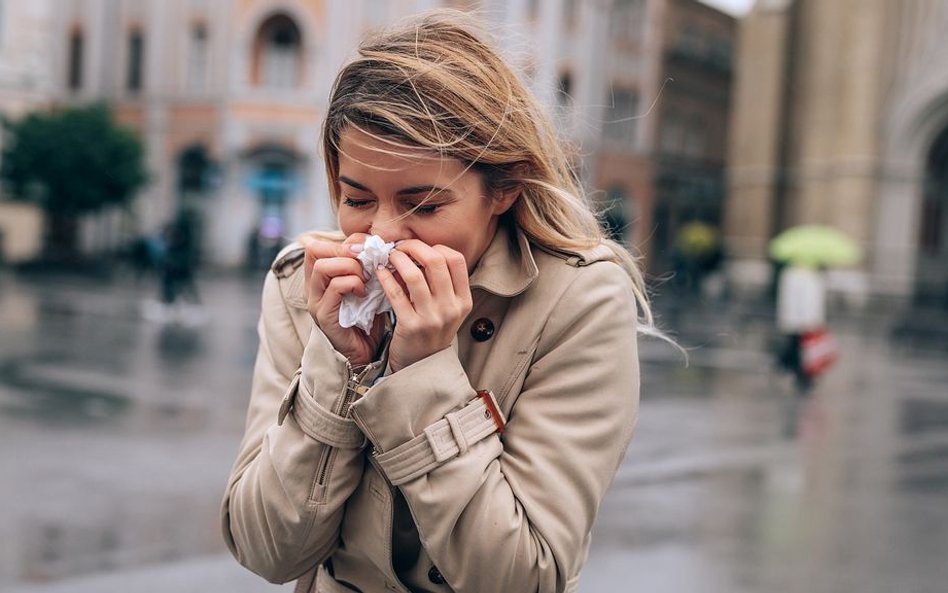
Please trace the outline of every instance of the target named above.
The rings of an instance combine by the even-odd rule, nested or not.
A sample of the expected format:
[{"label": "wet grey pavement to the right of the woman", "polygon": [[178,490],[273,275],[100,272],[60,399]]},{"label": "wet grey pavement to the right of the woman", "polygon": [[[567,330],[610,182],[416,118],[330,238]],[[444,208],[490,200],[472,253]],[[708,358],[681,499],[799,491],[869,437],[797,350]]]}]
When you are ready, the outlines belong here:
[{"label": "wet grey pavement to the right of the woman", "polygon": [[944,591],[948,352],[892,343],[885,319],[839,319],[843,358],[803,399],[753,320],[708,321],[693,339],[714,349],[720,331],[746,364],[715,368],[699,349],[676,368],[643,348],[639,431],[584,590]]}]

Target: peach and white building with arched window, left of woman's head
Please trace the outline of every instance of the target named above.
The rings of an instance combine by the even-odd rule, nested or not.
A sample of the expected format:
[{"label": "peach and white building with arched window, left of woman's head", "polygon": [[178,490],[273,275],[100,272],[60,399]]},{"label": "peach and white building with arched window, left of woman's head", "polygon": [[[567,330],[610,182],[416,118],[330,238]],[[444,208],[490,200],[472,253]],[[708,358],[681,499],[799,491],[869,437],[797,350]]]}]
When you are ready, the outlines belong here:
[{"label": "peach and white building with arched window, left of woman's head", "polygon": [[107,101],[142,135],[152,183],[135,202],[139,232],[189,211],[209,258],[235,265],[331,224],[313,199],[320,106],[357,16],[319,0],[64,3],[59,98]]}]

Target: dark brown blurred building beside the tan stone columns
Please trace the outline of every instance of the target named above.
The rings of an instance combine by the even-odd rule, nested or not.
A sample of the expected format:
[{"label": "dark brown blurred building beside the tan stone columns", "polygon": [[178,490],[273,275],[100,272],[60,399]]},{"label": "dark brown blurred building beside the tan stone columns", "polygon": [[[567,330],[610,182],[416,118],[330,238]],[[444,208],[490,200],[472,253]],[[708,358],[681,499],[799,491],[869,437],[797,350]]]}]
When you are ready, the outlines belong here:
[{"label": "dark brown blurred building beside the tan stone columns", "polygon": [[[696,0],[656,3],[665,84],[648,138],[654,173],[652,268],[668,269],[679,230],[723,218],[736,20]],[[665,82],[667,81],[667,83]]]}]

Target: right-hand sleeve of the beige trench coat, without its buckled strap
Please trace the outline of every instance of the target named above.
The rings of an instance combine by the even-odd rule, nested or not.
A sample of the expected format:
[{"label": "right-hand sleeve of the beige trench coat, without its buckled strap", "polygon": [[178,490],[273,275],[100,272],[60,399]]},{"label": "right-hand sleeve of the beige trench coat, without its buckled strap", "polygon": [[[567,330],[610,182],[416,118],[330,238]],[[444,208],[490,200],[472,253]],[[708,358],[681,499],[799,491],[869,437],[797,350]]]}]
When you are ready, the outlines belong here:
[{"label": "right-hand sleeve of the beige trench coat, without its buckled strap", "polygon": [[[638,411],[636,309],[612,263],[581,268],[545,320],[502,436],[399,487],[451,589],[564,591]],[[474,390],[448,349],[388,377],[353,417],[377,451],[425,432]]]}]

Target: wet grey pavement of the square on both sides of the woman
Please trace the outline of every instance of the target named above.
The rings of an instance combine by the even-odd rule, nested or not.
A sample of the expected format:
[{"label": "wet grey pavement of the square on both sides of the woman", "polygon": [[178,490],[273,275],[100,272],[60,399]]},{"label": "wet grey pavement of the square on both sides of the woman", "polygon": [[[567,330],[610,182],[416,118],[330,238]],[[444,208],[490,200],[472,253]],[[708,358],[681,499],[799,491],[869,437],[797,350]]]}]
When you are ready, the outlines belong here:
[{"label": "wet grey pavement of the square on both sides of the woman", "polygon": [[[172,323],[147,282],[0,269],[0,591],[281,589],[225,555],[217,518],[258,282],[200,288]],[[843,356],[801,400],[765,309],[677,310],[690,364],[643,344],[581,591],[945,591],[948,344],[837,315]]]}]

